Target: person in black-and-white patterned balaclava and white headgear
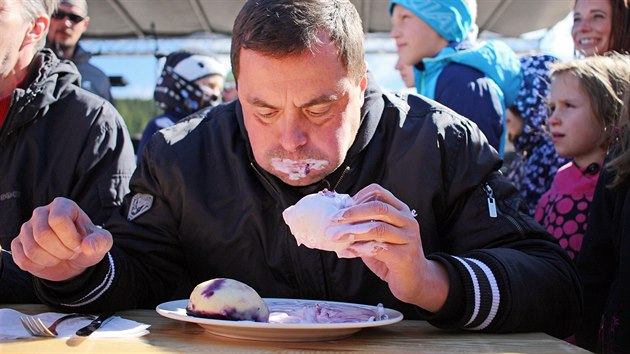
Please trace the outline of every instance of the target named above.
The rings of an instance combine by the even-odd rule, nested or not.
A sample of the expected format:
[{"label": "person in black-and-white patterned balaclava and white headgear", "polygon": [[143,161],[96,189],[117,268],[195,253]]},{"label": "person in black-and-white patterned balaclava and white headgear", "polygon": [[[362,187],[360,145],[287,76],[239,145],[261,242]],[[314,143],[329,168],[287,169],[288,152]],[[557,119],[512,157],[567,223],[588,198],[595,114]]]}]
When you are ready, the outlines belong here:
[{"label": "person in black-and-white patterned balaclava and white headgear", "polygon": [[137,148],[137,162],[144,146],[155,132],[170,127],[180,119],[208,106],[222,102],[227,68],[213,56],[180,50],[166,57],[153,99],[164,112],[153,118],[142,132]]}]

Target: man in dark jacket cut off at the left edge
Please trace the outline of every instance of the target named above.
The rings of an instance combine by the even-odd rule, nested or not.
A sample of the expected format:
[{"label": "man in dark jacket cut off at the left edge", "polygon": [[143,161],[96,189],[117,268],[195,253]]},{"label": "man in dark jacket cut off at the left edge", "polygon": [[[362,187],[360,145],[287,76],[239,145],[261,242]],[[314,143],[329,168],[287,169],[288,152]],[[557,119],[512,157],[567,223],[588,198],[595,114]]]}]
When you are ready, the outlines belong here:
[{"label": "man in dark jacket cut off at the left edge", "polygon": [[[79,86],[72,63],[42,49],[56,0],[0,0],[0,247],[31,210],[77,198],[97,223],[122,203],[135,169],[116,109]],[[37,302],[31,276],[0,256],[0,303]]]}]

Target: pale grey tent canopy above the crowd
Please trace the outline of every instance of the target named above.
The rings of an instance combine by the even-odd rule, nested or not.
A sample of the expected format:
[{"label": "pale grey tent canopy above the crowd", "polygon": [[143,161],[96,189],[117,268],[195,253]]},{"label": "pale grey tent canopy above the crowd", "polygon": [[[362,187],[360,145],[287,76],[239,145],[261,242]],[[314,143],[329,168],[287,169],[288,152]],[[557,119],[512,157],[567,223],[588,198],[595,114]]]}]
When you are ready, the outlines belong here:
[{"label": "pale grey tent canopy above the crowd", "polygon": [[[229,35],[242,0],[87,0],[90,27],[84,38]],[[573,0],[477,0],[480,31],[516,37],[564,18]],[[352,0],[365,31],[389,32],[389,0]]]}]

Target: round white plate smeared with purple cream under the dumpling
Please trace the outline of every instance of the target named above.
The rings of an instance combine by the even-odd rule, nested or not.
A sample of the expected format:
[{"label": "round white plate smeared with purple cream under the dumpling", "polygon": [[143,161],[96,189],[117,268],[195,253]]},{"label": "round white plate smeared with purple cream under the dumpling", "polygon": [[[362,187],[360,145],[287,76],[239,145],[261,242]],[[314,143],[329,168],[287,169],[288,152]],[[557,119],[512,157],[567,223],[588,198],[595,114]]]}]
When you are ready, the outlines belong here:
[{"label": "round white plate smeared with purple cream under the dumpling", "polygon": [[[320,300],[297,300],[297,299],[264,299],[269,306],[269,311],[283,312],[286,309],[299,310],[306,305],[314,306],[319,304],[324,308],[332,308],[335,311],[356,313],[361,310],[376,312],[376,306],[359,305],[345,302],[320,301]],[[353,333],[367,327],[380,327],[399,322],[403,319],[402,313],[385,308],[387,319],[378,321],[360,321],[344,323],[269,323],[253,321],[227,321],[214,320],[189,316],[186,314],[188,300],[176,300],[162,303],[157,306],[156,311],[174,320],[192,322],[200,325],[206,331],[224,337],[262,340],[273,342],[303,342],[303,341],[323,341],[348,337]]]}]

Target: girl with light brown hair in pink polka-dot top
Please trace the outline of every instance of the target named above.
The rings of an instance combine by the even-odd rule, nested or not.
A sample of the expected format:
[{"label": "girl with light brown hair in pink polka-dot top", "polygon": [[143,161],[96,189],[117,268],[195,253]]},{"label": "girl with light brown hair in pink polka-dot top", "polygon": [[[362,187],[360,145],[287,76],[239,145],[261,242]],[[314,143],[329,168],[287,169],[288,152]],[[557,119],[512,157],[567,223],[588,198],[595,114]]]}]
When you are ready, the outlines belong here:
[{"label": "girl with light brown hair in pink polka-dot top", "polygon": [[547,128],[559,156],[556,173],[536,207],[540,222],[575,261],[604,158],[616,139],[630,59],[594,56],[552,65]]}]

